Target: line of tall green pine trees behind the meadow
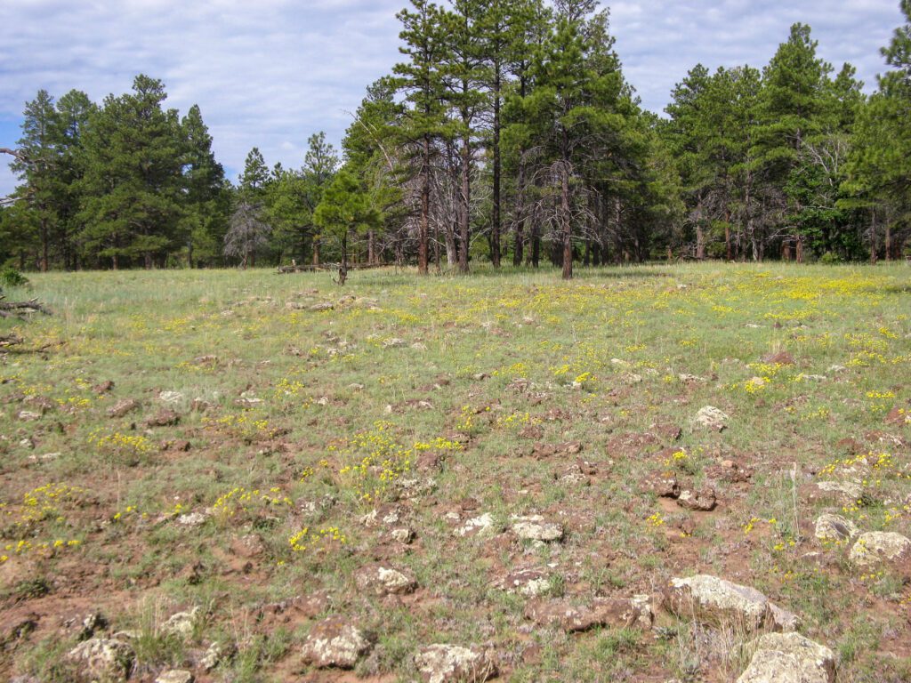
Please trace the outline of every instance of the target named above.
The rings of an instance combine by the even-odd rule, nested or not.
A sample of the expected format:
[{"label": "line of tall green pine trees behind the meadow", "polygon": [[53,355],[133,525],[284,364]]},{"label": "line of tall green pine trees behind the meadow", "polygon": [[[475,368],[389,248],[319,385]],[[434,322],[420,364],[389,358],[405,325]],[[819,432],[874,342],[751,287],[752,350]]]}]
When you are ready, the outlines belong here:
[{"label": "line of tall green pine trees behind the meadow", "polygon": [[906,256],[911,0],[866,96],[807,25],[762,68],[694,66],[666,117],[623,76],[597,0],[411,0],[400,63],[341,152],[251,149],[236,183],[159,80],[27,103],[0,262],[38,268]]}]

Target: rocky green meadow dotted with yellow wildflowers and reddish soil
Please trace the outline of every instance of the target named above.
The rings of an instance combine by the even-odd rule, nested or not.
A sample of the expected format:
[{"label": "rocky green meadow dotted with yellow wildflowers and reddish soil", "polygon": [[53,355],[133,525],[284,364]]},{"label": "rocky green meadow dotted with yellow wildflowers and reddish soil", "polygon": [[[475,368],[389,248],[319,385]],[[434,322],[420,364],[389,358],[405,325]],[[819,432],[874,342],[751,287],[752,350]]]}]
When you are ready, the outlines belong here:
[{"label": "rocky green meadow dotted with yellow wildflowers and reddish soil", "polygon": [[[769,622],[675,608],[696,575],[793,612],[838,681],[911,678],[911,555],[851,555],[911,535],[905,264],[29,277],[8,678],[734,680]],[[432,678],[435,644],[475,664]]]}]

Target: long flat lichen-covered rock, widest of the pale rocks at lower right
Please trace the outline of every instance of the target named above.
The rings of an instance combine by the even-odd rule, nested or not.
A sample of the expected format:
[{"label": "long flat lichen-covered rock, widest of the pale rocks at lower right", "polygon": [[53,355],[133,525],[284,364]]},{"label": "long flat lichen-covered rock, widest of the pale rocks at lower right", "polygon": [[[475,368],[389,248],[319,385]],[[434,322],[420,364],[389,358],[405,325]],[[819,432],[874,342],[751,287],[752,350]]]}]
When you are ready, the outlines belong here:
[{"label": "long flat lichen-covered rock, widest of the pale rocks at lower right", "polygon": [[666,599],[670,610],[681,617],[734,624],[746,630],[765,627],[789,631],[799,623],[793,613],[773,605],[755,588],[740,586],[717,576],[671,579]]}]

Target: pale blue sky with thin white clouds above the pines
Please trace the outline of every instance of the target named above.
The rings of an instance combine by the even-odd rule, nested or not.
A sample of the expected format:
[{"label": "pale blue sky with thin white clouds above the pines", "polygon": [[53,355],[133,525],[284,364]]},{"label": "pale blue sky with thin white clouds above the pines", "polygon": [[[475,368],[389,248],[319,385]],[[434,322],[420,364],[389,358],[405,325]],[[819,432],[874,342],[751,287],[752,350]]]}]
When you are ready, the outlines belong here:
[{"label": "pale blue sky with thin white clouds above the pines", "polygon": [[[338,148],[364,88],[399,59],[395,14],[407,0],[2,0],[0,148],[15,147],[39,89],[97,102],[160,78],[166,106],[198,104],[234,180],[253,147],[300,168],[307,138]],[[765,65],[789,27],[813,27],[818,54],[875,87],[879,48],[904,23],[898,0],[677,0],[603,3],[624,73],[661,112],[698,63]],[[0,159],[0,197],[15,177]]]}]

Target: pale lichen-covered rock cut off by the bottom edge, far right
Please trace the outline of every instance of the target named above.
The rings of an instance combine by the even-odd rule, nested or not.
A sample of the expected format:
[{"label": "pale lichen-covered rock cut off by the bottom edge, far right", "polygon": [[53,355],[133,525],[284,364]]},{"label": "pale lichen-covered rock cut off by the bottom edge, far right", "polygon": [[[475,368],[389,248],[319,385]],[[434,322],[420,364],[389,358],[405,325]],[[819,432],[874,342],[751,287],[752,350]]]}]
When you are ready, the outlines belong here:
[{"label": "pale lichen-covered rock cut off by the bottom edge, far right", "polygon": [[766,634],[757,646],[737,683],[834,683],[835,658],[828,647],[798,633]]}]

